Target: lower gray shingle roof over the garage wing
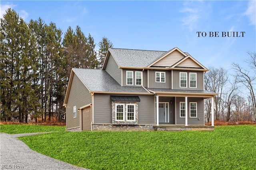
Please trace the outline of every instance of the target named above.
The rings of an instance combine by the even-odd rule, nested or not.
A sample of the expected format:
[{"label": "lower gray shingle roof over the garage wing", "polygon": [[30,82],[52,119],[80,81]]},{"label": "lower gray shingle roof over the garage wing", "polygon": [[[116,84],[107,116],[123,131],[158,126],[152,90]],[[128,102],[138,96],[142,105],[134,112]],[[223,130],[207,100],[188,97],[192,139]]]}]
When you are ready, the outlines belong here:
[{"label": "lower gray shingle roof over the garage wing", "polygon": [[142,87],[121,86],[105,70],[72,68],[90,92],[148,93]]}]

